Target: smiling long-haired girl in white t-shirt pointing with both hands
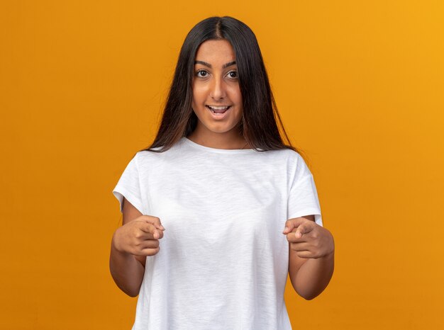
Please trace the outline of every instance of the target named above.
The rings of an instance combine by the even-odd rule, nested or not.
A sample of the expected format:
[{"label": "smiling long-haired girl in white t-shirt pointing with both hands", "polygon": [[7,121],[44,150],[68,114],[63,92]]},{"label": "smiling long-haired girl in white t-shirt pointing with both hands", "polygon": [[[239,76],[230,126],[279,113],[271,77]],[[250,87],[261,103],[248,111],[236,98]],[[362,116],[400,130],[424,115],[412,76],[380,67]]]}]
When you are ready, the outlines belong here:
[{"label": "smiling long-haired girl in white t-shirt pointing with both hands", "polygon": [[113,190],[110,270],[139,295],[133,329],[292,329],[287,275],[307,300],[326,288],[333,237],[276,119],[252,30],[228,16],[194,26],[157,136]]}]

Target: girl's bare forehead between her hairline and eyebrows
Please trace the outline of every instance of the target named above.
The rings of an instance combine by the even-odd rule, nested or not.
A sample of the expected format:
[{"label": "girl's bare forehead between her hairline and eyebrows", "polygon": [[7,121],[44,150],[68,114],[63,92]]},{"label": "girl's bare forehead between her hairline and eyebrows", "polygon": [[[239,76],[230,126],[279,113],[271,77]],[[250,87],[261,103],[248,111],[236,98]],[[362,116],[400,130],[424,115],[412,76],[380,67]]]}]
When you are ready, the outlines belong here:
[{"label": "girl's bare forehead between her hairline and eyebrows", "polygon": [[235,60],[235,54],[228,40],[206,40],[202,42],[196,52],[196,60],[208,63],[231,62]]}]

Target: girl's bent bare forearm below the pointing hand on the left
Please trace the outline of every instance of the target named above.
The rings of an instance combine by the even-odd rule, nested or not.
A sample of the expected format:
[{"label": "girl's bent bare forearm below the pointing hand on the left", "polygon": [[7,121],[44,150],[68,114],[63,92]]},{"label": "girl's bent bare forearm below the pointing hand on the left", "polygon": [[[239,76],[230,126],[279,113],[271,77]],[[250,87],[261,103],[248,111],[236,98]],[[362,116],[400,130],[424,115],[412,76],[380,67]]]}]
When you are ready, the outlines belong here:
[{"label": "girl's bent bare forearm below the pointing hand on the left", "polygon": [[145,268],[132,254],[118,251],[114,244],[114,237],[111,241],[109,270],[114,282],[123,292],[131,297],[139,294]]}]

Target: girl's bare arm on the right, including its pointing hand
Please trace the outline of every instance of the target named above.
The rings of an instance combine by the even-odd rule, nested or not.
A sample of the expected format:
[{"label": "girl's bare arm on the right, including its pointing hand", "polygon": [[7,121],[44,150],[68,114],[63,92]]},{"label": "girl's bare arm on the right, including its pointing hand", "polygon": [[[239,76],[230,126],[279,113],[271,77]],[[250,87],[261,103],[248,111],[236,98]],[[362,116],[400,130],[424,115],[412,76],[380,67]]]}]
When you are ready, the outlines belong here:
[{"label": "girl's bare arm on the right, including its pointing hand", "polygon": [[[327,229],[314,223],[313,215],[292,220],[296,220],[292,223],[301,235],[296,236],[298,229],[287,234],[289,277],[298,295],[311,300],[323,292],[333,276],[333,236]],[[287,227],[289,222],[291,220],[287,221]]]}]

